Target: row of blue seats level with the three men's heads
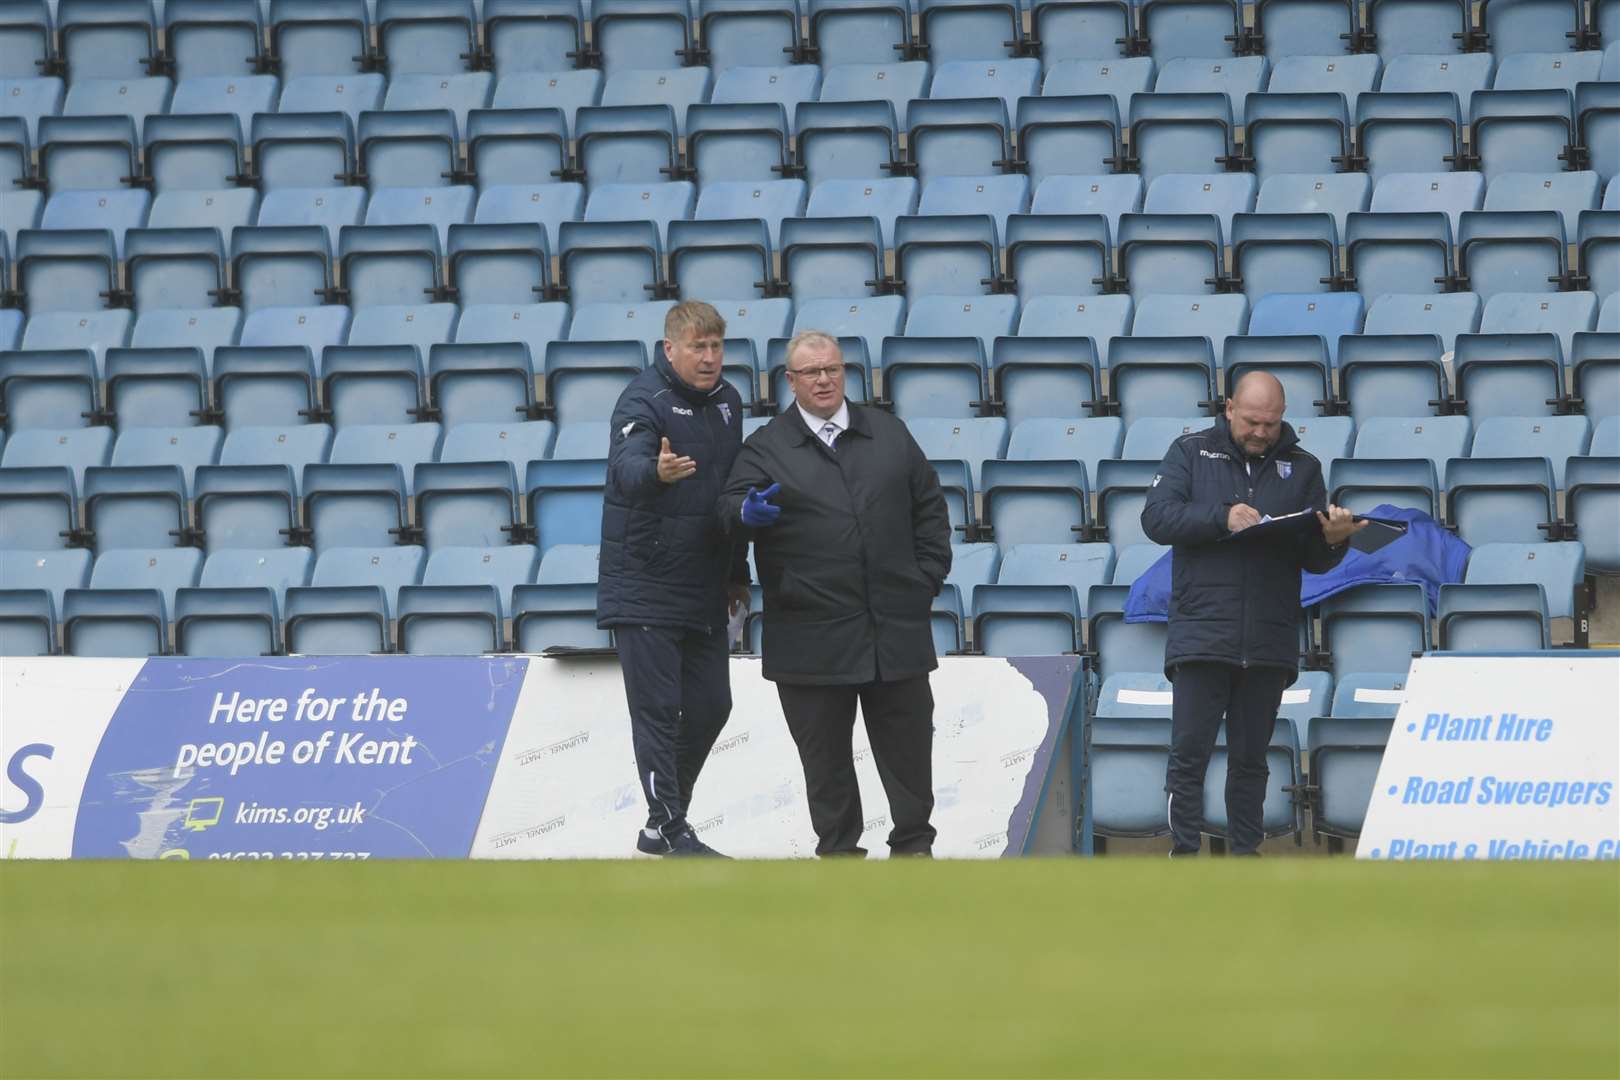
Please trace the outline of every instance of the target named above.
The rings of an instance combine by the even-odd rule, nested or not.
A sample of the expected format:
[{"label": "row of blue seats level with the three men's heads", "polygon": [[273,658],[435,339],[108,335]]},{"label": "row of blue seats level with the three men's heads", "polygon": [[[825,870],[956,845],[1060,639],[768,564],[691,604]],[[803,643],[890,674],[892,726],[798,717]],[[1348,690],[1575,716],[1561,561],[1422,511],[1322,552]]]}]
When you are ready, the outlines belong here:
[{"label": "row of blue seats level with the three men's heads", "polygon": [[[1155,316],[1147,325],[1162,335],[1040,334],[1077,327],[1027,322],[1035,334],[1008,337],[996,332],[1011,329],[1008,321],[988,327],[996,332],[988,350],[972,334],[974,322],[951,321],[951,309],[941,308],[946,325],[930,329],[953,337],[883,337],[876,353],[863,337],[842,337],[846,393],[906,419],[1004,416],[1003,423],[1017,424],[1090,413],[1132,424],[1218,410],[1243,374],[1268,371],[1283,382],[1285,415],[1294,421],[1435,418],[1466,429],[1469,421],[1523,418],[1578,423],[1586,431],[1588,416],[1602,424],[1620,415],[1620,335],[1614,332],[1573,334],[1568,364],[1552,332],[1456,334],[1452,351],[1432,332],[1345,334],[1330,347],[1320,334],[1241,334],[1246,309],[1241,298],[1230,300],[1149,298],[1137,329]],[[914,309],[930,311],[927,304]],[[1097,317],[1119,311],[1129,314],[1115,304],[1115,313]],[[786,347],[787,338],[773,337],[760,356],[752,340],[729,342],[724,374],[752,415],[792,403]],[[190,437],[201,439],[206,429],[211,437],[196,444],[198,452],[215,452],[225,432],[305,423],[343,431],[441,421],[454,432],[554,419],[578,429],[606,421],[617,395],[648,364],[638,340],[551,342],[543,363],[520,342],[436,343],[426,348],[426,366],[421,351],[411,343],[329,345],[318,366],[318,355],[305,345],[220,345],[212,359],[198,347],[113,347],[100,363],[89,348],[26,348],[0,353],[0,416],[13,437],[105,424],[120,432],[193,429]],[[565,457],[604,447],[606,429],[598,436],[567,439]],[[525,452],[549,445],[549,427],[544,439],[522,440]],[[523,457],[546,453],[514,460]]]}]

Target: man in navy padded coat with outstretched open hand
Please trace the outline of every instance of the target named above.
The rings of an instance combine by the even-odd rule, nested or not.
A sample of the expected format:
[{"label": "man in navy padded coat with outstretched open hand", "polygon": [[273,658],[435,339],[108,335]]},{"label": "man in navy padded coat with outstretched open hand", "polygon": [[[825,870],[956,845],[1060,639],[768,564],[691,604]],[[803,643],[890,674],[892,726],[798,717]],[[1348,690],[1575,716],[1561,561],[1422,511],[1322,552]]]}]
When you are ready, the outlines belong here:
[{"label": "man in navy padded coat with outstretched open hand", "polygon": [[688,300],[664,317],[664,358],[612,411],[596,625],[612,627],[646,826],[643,855],[714,855],[687,805],[731,716],[727,614],[748,602],[745,541],[714,521],[742,445],[742,398],[721,377],[726,321]]}]

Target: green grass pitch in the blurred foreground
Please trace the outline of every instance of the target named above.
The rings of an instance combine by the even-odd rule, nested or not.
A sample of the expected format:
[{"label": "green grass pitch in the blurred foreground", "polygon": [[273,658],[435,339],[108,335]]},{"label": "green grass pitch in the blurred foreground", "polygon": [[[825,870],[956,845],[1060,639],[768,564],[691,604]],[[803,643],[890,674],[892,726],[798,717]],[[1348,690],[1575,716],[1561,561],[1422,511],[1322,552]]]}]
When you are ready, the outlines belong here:
[{"label": "green grass pitch in the blurred foreground", "polygon": [[1614,865],[0,865],[0,1075],[1617,1077]]}]

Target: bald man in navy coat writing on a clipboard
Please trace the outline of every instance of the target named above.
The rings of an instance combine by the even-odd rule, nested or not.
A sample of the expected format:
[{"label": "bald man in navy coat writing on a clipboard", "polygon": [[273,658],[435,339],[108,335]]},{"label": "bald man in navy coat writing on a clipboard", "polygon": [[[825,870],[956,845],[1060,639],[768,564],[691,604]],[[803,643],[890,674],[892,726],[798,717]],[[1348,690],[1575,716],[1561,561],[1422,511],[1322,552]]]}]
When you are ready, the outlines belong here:
[{"label": "bald man in navy coat writing on a clipboard", "polygon": [[[1226,819],[1233,855],[1264,839],[1265,750],[1299,674],[1299,572],[1327,573],[1364,528],[1328,505],[1322,463],[1283,421],[1283,384],[1238,381],[1213,427],[1170,445],[1142,528],[1173,544],[1165,674],[1174,683],[1165,790],[1171,855],[1197,855],[1204,774],[1226,722]],[[1234,539],[1267,517],[1314,510],[1309,528]]]}]

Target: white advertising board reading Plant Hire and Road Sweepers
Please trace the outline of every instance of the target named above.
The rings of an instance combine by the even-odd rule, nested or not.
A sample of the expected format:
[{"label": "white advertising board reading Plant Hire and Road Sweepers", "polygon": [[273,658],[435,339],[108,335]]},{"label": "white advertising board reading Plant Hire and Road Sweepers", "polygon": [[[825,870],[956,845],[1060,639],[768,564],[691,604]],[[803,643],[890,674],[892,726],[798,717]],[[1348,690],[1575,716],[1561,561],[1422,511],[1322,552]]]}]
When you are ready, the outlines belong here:
[{"label": "white advertising board reading Plant Hire and Road Sweepers", "polygon": [[1620,656],[1424,656],[1358,858],[1620,858]]}]

